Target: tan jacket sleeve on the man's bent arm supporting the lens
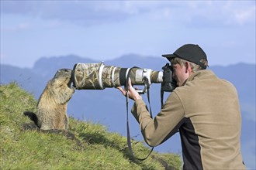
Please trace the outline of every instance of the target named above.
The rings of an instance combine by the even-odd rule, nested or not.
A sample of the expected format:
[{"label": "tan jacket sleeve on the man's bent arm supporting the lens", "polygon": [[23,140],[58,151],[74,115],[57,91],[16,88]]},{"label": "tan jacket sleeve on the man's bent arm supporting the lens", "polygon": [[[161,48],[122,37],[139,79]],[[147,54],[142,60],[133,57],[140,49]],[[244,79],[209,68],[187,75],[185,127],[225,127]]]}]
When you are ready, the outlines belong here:
[{"label": "tan jacket sleeve on the man's bent arm supporting the lens", "polygon": [[184,118],[184,108],[177,93],[172,92],[154,119],[150,117],[144,100],[136,100],[132,114],[140,124],[147,145],[157,146],[178,131]]}]

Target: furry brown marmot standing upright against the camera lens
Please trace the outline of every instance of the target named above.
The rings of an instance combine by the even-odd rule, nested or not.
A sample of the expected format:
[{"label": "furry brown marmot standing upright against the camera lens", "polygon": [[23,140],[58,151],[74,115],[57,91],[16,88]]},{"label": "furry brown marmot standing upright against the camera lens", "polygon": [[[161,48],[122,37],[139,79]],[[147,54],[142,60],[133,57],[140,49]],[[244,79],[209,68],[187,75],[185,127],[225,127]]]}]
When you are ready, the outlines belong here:
[{"label": "furry brown marmot standing upright against the camera lens", "polygon": [[67,130],[67,102],[74,93],[74,87],[71,87],[71,71],[57,70],[38,100],[36,114],[30,111],[24,112],[40,130]]}]

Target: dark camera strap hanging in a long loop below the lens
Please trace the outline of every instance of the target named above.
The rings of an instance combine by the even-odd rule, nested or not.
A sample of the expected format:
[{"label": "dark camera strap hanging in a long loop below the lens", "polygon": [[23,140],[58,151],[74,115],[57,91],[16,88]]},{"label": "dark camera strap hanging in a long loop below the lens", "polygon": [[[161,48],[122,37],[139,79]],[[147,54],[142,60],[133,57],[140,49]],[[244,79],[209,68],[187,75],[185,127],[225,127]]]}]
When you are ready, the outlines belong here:
[{"label": "dark camera strap hanging in a long loop below the lens", "polygon": [[[128,91],[129,91],[129,85],[128,85],[128,81],[129,81],[129,77],[130,77],[130,70],[128,72],[128,75],[126,76],[126,86],[125,86],[125,89],[126,89],[126,129],[127,129],[127,145],[128,145],[128,148],[129,148],[129,151],[130,151],[130,155],[132,155],[132,158],[133,158],[133,161],[134,159],[137,159],[139,161],[144,161],[146,160],[151,152],[154,150],[154,147],[151,148],[150,150],[150,153],[147,155],[147,157],[145,158],[137,158],[134,154],[133,154],[133,148],[132,148],[132,145],[131,145],[131,138],[130,138],[130,128],[129,128],[129,110],[128,110],[128,105],[129,105],[129,94],[128,94]],[[145,86],[147,88],[147,100],[148,100],[148,103],[149,103],[149,107],[150,107],[150,84],[148,83],[148,80],[147,78],[144,79],[145,80]],[[150,117],[152,118],[152,111],[151,111],[151,107],[150,107]]]}]

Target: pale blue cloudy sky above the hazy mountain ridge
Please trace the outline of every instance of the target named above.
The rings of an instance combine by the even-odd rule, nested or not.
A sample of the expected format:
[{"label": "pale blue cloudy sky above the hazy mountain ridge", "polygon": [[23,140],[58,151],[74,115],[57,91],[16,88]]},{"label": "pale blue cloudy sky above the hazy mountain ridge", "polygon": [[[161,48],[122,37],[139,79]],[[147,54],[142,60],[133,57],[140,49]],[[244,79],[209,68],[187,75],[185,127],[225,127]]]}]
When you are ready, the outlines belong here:
[{"label": "pale blue cloudy sky above the hazy mountain ridge", "polygon": [[1,63],[70,54],[161,57],[199,44],[209,66],[255,62],[255,1],[1,0]]}]

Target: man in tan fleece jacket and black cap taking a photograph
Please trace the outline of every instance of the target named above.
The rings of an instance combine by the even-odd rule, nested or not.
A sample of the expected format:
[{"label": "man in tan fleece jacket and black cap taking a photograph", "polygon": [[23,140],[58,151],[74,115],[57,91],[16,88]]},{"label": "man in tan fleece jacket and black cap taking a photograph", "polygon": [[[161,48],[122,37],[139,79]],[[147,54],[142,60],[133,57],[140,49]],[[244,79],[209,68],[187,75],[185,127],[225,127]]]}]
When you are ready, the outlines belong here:
[{"label": "man in tan fleece jacket and black cap taking a photograph", "polygon": [[144,100],[129,82],[128,94],[135,101],[132,113],[144,140],[157,146],[179,131],[184,169],[245,169],[235,87],[206,70],[206,53],[198,45],[186,44],[163,56],[171,62],[178,87],[156,117],[150,117]]}]

